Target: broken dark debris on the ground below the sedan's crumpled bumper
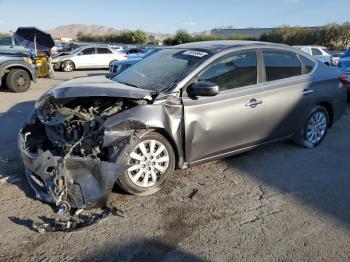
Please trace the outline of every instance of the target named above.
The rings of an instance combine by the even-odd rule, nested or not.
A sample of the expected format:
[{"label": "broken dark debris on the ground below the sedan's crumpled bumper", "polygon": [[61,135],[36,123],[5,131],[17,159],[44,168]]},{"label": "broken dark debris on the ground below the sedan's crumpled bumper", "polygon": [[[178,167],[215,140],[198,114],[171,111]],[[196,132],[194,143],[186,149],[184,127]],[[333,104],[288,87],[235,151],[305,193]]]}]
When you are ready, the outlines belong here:
[{"label": "broken dark debris on the ground below the sedan's crumpled bumper", "polygon": [[100,213],[92,213],[89,215],[82,215],[82,211],[82,209],[79,209],[69,219],[47,218],[47,221],[43,223],[33,222],[32,228],[41,234],[55,231],[71,232],[96,224],[110,215],[125,217],[124,212],[116,207],[106,207],[103,208]]}]

